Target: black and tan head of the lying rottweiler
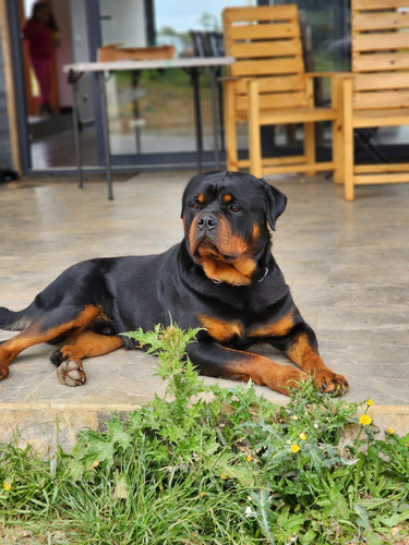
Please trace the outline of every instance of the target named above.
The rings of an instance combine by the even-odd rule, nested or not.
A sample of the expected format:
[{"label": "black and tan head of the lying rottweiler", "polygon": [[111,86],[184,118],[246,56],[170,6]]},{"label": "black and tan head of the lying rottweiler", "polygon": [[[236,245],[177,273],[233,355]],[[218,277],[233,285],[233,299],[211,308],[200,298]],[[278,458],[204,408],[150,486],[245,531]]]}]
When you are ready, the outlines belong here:
[{"label": "black and tan head of the lying rottweiler", "polygon": [[248,286],[269,247],[267,223],[286,208],[277,189],[241,172],[209,172],[184,190],[182,219],[193,261],[214,281]]}]

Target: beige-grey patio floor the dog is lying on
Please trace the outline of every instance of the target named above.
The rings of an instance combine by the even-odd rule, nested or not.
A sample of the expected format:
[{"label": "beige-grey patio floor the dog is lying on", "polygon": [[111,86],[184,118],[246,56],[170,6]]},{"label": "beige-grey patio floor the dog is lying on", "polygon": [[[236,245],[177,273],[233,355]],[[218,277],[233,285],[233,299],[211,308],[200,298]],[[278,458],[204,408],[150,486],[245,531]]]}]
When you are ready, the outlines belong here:
[{"label": "beige-grey patio floor the dog is lying on", "polygon": [[[189,179],[189,172],[143,173],[115,183],[113,202],[104,179],[83,190],[74,179],[0,185],[0,306],[25,307],[79,261],[158,253],[179,242]],[[274,254],[324,361],[348,378],[347,400],[373,399],[377,425],[409,432],[408,184],[359,187],[356,201],[346,203],[342,187],[324,175],[268,181],[288,196]],[[0,331],[0,340],[12,335]],[[0,441],[17,427],[40,451],[57,443],[70,448],[77,429],[95,428],[112,411],[134,410],[165,392],[155,358],[141,351],[88,360],[84,386],[61,386],[48,359],[52,350],[28,349],[0,383]],[[261,350],[290,364],[274,349]]]}]

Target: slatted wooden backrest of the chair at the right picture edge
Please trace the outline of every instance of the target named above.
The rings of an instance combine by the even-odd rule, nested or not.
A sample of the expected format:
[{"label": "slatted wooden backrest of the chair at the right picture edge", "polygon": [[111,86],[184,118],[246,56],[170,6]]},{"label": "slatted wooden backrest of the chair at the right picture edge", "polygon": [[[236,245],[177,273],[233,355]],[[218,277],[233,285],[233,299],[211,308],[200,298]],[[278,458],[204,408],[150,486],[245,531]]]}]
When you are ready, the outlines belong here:
[{"label": "slatted wooden backrest of the chair at the right picture edge", "polygon": [[409,0],[351,0],[352,106],[409,107]]}]

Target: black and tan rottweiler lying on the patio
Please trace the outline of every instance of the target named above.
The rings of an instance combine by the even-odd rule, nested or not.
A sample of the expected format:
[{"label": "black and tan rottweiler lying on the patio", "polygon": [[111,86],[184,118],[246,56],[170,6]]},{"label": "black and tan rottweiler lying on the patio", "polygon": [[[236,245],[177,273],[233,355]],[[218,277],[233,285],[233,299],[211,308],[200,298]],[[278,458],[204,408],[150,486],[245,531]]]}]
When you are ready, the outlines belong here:
[{"label": "black and tan rottweiler lying on the patio", "polygon": [[[313,376],[322,391],[347,391],[344,376],[318,354],[312,328],[294,305],[270,251],[270,231],[287,198],[263,179],[239,172],[193,177],[183,193],[184,239],[158,255],[103,257],[64,270],[25,310],[0,308],[0,328],[21,331],[0,344],[0,379],[38,342],[51,354],[61,384],[85,383],[83,359],[121,347],[121,332],[155,325],[202,328],[188,354],[200,373],[251,378],[288,395]],[[298,365],[248,352],[269,343]]]}]

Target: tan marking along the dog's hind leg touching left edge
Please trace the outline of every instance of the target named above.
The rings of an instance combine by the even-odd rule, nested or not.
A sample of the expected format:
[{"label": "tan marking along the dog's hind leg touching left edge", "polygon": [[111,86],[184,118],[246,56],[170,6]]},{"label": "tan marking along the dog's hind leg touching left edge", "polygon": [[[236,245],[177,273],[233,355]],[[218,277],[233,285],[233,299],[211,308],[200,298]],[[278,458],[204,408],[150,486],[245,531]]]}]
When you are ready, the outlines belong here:
[{"label": "tan marking along the dog's hind leg touching left edge", "polygon": [[87,305],[74,319],[48,329],[43,328],[40,320],[34,320],[22,332],[0,346],[0,379],[8,376],[10,362],[23,350],[40,342],[51,341],[72,329],[85,328],[100,315],[99,306]]}]

